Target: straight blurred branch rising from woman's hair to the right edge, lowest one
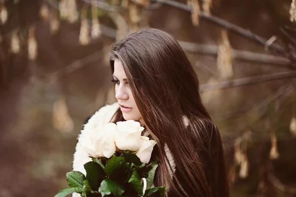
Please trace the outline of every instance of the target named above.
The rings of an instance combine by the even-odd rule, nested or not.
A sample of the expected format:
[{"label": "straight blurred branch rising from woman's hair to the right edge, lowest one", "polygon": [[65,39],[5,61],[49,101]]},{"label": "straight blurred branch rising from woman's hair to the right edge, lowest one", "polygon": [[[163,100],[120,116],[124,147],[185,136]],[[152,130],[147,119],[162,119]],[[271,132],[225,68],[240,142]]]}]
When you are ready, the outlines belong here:
[{"label": "straight blurred branch rising from woman's hair to the right edge, lowest one", "polygon": [[287,78],[296,78],[296,71],[293,72],[282,72],[270,75],[256,76],[250,78],[242,78],[242,79],[233,79],[228,81],[222,81],[218,83],[211,84],[201,84],[200,90],[215,90],[215,89],[227,89],[230,87],[238,87],[243,85],[250,85],[259,82],[278,80],[278,79],[287,79]]}]

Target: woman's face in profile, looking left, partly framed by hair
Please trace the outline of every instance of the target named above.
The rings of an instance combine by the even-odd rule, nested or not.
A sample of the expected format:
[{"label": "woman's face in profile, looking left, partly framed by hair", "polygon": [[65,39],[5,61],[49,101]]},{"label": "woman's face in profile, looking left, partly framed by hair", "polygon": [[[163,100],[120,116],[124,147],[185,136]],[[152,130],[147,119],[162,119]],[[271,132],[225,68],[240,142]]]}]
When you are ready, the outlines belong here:
[{"label": "woman's face in profile, looking left, partly framed by hair", "polygon": [[134,100],[134,96],[127,83],[126,75],[120,60],[114,61],[113,82],[115,83],[115,98],[118,101],[120,110],[125,120],[135,120],[143,124],[139,109]]}]

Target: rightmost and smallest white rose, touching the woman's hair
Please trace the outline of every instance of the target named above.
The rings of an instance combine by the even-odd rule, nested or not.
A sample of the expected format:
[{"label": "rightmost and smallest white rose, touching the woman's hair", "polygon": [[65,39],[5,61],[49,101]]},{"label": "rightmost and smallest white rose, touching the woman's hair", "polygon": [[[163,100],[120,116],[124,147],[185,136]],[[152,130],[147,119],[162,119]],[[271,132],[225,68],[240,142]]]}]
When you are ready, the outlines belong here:
[{"label": "rightmost and smallest white rose, touching the woman's hair", "polygon": [[154,140],[149,140],[149,138],[146,136],[141,136],[141,141],[141,147],[136,156],[140,158],[141,162],[148,163],[150,161],[153,147],[155,146],[156,142]]}]

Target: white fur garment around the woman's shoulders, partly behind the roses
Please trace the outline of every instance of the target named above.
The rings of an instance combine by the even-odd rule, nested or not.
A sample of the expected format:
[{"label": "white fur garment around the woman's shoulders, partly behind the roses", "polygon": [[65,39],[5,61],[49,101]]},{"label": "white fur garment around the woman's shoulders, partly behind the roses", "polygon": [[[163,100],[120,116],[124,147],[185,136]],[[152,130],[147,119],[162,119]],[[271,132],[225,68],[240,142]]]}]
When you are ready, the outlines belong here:
[{"label": "white fur garment around the woman's shoulders, partly behind the roses", "polygon": [[[114,103],[112,105],[106,105],[102,107],[99,111],[97,111],[86,124],[84,124],[83,129],[81,130],[81,133],[78,136],[78,140],[81,135],[91,131],[95,127],[102,127],[104,124],[110,122],[111,118],[113,117],[114,113],[118,110],[119,106],[118,103]],[[187,118],[184,118],[185,125],[188,125]],[[174,169],[175,172],[175,162],[173,160],[173,157],[171,155],[170,150],[167,146],[165,146],[165,152],[167,154],[167,157],[170,161],[171,166]],[[84,164],[91,161],[92,159],[87,156],[87,154],[83,151],[82,147],[80,146],[79,142],[76,144],[75,153],[74,153],[74,160],[73,160],[73,170],[74,171],[80,171],[84,175],[86,175],[86,171],[84,169]],[[173,174],[171,173],[171,177]],[[80,197],[80,194],[74,193],[73,197]]]}]

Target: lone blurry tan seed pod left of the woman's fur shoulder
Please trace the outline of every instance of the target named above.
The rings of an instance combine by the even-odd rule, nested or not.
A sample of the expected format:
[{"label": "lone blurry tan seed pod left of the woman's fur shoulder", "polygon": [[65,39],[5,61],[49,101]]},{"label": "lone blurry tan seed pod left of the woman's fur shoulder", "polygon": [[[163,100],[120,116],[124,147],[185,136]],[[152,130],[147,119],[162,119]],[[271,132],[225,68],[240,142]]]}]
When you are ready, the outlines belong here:
[{"label": "lone blurry tan seed pod left of the woman's fur shoulder", "polygon": [[74,122],[68,112],[65,98],[60,98],[53,104],[52,122],[54,127],[61,132],[73,131]]}]

